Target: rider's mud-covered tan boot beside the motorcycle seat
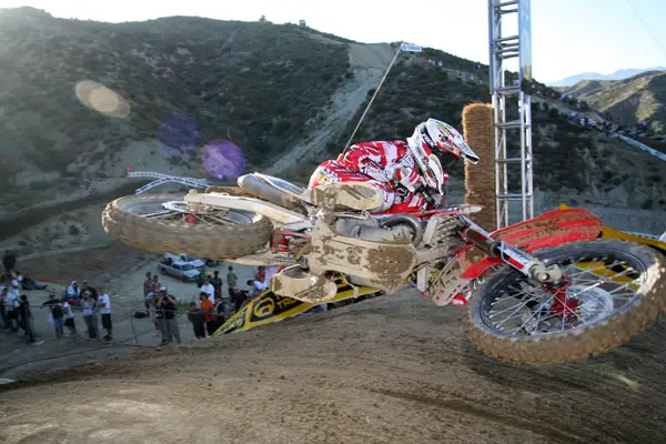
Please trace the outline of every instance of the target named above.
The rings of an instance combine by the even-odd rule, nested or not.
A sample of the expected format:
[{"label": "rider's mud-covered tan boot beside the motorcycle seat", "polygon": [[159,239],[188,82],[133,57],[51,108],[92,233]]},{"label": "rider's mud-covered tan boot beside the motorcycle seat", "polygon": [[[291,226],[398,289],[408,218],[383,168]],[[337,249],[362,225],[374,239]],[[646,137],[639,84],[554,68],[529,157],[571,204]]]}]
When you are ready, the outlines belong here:
[{"label": "rider's mud-covered tan boot beside the motorcycle seat", "polygon": [[316,185],[310,190],[310,202],[327,210],[381,210],[384,193],[366,182],[334,182]]}]

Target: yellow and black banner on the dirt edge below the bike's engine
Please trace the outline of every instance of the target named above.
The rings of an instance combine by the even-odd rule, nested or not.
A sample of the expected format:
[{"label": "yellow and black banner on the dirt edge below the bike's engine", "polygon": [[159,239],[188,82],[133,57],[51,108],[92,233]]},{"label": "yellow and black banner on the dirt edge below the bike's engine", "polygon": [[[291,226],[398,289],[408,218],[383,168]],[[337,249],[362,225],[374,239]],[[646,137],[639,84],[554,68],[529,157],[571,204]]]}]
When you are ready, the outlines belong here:
[{"label": "yellow and black banner on the dirt edge below the bike's engine", "polygon": [[[377,289],[370,286],[351,285],[343,276],[336,279],[335,283],[337,284],[337,294],[332,300],[324,302],[325,304],[379,292]],[[279,296],[266,290],[231,316],[215,331],[214,335],[243,332],[255,326],[279,322],[303,313],[315,305],[321,304],[311,304],[291,297]]]}]

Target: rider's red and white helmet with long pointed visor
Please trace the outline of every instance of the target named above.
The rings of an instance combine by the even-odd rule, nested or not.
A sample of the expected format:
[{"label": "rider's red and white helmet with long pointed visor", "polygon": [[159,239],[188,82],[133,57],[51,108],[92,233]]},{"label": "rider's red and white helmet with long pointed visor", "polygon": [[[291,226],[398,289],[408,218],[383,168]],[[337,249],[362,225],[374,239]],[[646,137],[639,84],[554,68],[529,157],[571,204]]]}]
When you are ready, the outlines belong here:
[{"label": "rider's red and white helmet with long pointed visor", "polygon": [[478,162],[478,155],[472,151],[455,128],[436,119],[420,123],[414,134],[407,138],[407,145],[425,179],[426,184],[444,194],[445,174],[441,159],[451,154],[455,159]]}]

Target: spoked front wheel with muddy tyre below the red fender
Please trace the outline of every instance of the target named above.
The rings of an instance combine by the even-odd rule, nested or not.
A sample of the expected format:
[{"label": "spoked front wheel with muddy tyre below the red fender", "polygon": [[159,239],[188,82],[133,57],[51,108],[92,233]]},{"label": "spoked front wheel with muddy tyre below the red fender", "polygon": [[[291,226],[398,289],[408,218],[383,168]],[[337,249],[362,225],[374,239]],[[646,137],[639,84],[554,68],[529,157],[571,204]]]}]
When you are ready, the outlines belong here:
[{"label": "spoked front wheel with muddy tyre below the red fender", "polygon": [[597,240],[534,253],[568,284],[546,290],[504,268],[467,305],[474,346],[504,361],[555,364],[605,353],[650,326],[666,309],[666,263],[654,250]]}]

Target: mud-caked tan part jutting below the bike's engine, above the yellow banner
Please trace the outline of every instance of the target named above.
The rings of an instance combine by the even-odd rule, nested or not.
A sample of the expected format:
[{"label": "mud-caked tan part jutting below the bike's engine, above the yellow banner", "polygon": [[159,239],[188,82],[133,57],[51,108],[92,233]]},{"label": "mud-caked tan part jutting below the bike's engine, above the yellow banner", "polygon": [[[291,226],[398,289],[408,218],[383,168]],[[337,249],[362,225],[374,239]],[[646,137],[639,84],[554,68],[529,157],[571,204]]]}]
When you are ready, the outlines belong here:
[{"label": "mud-caked tan part jutting below the bike's engine, above the yellow banner", "polygon": [[335,297],[337,285],[323,275],[314,275],[304,272],[300,265],[292,265],[271,276],[271,291],[280,296],[319,304]]}]

